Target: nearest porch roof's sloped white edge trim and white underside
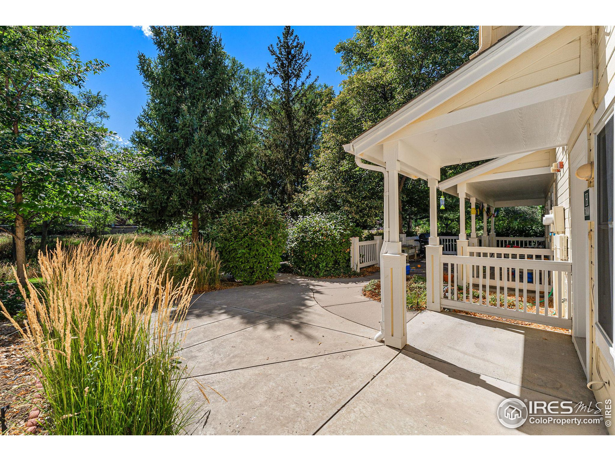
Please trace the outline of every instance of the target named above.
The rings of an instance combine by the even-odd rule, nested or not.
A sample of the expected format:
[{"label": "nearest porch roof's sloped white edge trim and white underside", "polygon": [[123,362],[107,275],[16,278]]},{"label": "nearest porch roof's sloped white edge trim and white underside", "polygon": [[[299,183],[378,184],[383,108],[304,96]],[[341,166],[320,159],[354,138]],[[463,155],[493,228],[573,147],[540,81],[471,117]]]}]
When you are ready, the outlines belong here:
[{"label": "nearest porch roof's sloped white edge trim and white underside", "polygon": [[[525,155],[565,145],[592,91],[591,71],[474,105],[450,111],[440,109],[470,85],[496,73],[554,34],[565,41],[577,33],[567,30],[561,32],[566,34],[561,37],[560,31],[556,26],[522,26],[344,149],[384,166],[385,146],[394,146],[403,175],[439,180],[440,168],[446,165]],[[432,111],[443,113],[431,116]],[[532,181],[538,185],[546,178]]]}]

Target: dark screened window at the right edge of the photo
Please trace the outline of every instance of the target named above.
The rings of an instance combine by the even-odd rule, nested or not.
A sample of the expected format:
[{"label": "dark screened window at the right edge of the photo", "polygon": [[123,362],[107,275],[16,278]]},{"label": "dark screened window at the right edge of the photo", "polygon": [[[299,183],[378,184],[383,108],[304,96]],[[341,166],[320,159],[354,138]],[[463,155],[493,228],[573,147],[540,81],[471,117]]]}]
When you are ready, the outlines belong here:
[{"label": "dark screened window at the right edge of the photo", "polygon": [[596,149],[598,323],[613,341],[613,117]]}]

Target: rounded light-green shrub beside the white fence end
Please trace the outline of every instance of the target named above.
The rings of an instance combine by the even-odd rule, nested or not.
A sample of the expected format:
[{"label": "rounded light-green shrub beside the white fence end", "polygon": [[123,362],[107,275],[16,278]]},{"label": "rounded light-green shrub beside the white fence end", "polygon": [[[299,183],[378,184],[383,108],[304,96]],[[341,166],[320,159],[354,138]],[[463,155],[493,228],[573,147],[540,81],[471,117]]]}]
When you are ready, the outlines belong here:
[{"label": "rounded light-green shrub beside the white fence end", "polygon": [[297,274],[308,277],[351,274],[350,238],[357,236],[356,227],[343,216],[304,216],[288,230],[288,261]]}]

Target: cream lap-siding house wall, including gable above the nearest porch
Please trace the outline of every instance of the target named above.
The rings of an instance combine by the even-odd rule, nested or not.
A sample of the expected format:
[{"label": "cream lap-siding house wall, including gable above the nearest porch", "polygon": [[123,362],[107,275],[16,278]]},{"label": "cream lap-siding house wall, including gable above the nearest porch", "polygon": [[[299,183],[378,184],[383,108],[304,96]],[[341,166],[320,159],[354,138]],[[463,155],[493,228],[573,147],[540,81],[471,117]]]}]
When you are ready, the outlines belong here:
[{"label": "cream lap-siding house wall, including gable above the nearest porch", "polygon": [[[573,262],[573,342],[588,381],[608,381],[595,390],[597,401],[615,401],[615,349],[597,331],[595,221],[597,191],[593,181],[574,176],[593,162],[596,135],[612,116],[615,101],[614,26],[566,27],[507,65],[425,114],[422,119],[520,92],[558,79],[593,71],[595,89],[588,98],[566,146],[555,149],[553,162],[563,162],[546,197],[547,211],[564,207],[569,259]],[[492,31],[493,32],[493,31]],[[557,116],[557,114],[555,114]],[[421,120],[421,119],[419,119]],[[553,157],[552,157],[553,158]],[[583,192],[590,194],[590,220],[584,219]],[[599,387],[594,385],[593,387]],[[613,425],[608,427],[615,435]]]}]

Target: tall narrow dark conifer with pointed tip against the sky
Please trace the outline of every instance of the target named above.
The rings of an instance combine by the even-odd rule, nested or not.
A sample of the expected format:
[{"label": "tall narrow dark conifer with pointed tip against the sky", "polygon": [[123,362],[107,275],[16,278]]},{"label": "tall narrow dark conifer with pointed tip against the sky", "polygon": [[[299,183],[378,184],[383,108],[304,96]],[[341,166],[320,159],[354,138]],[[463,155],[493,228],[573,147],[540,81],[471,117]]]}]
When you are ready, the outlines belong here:
[{"label": "tall narrow dark conifer with pointed tip against the sky", "polygon": [[266,101],[268,125],[264,130],[261,171],[269,200],[290,203],[304,183],[306,167],[320,136],[323,106],[333,97],[331,87],[311,79],[311,54],[304,50],[290,26],[285,26],[276,45],[269,45],[273,63],[267,65],[271,97]]}]

